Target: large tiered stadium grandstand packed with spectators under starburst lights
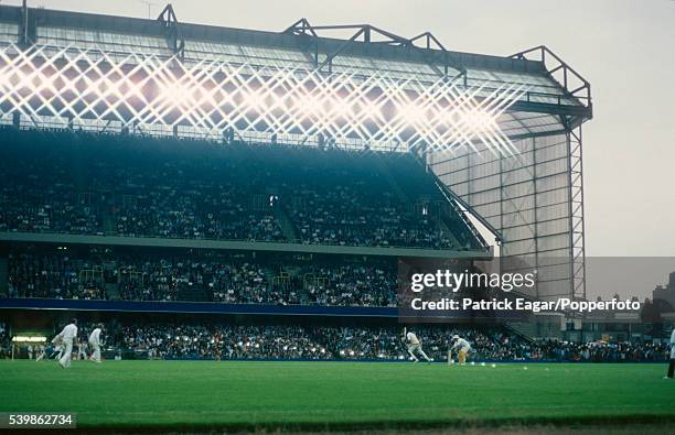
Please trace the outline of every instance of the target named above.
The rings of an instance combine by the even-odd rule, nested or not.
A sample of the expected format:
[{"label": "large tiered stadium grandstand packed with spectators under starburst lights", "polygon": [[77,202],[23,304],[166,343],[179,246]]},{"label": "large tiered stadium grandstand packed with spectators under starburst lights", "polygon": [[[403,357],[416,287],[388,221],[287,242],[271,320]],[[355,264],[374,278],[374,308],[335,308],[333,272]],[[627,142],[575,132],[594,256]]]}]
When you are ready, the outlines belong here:
[{"label": "large tiered stadium grandstand packed with spectators under starburst lights", "polygon": [[[74,314],[107,324],[108,358],[399,360],[401,259],[536,270],[527,297],[582,300],[591,118],[545,46],[0,6],[0,351]],[[419,331],[438,359],[454,333],[483,360],[664,351]]]}]

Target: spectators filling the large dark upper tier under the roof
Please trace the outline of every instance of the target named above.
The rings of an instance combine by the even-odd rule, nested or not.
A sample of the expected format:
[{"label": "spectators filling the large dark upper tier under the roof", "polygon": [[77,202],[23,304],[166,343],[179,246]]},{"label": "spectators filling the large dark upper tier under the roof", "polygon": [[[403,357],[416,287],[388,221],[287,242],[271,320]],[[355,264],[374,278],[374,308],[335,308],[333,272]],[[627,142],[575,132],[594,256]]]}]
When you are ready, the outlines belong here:
[{"label": "spectators filling the large dark upper tier under the roof", "polygon": [[429,213],[442,195],[410,155],[11,129],[0,140],[12,181],[0,231],[478,247],[456,214]]}]

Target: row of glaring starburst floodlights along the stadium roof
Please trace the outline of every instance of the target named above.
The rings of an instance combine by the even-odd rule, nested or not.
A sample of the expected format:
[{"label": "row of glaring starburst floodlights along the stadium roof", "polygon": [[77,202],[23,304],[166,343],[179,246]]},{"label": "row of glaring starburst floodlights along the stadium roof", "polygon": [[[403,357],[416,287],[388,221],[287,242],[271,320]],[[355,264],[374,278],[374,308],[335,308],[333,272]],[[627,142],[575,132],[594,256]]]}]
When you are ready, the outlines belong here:
[{"label": "row of glaring starburst floodlights along the stadium roof", "polygon": [[40,45],[31,52],[1,47],[0,74],[0,105],[31,117],[68,113],[76,120],[153,124],[158,131],[181,123],[215,134],[228,128],[307,138],[325,133],[336,142],[399,150],[452,152],[459,144],[483,143],[503,154],[513,153],[513,144],[496,120],[526,90],[488,90],[443,77],[401,80],[381,72],[366,78],[357,72],[329,76],[289,68],[262,74],[246,64],[185,65],[141,54],[120,59],[75,47],[54,54]]}]

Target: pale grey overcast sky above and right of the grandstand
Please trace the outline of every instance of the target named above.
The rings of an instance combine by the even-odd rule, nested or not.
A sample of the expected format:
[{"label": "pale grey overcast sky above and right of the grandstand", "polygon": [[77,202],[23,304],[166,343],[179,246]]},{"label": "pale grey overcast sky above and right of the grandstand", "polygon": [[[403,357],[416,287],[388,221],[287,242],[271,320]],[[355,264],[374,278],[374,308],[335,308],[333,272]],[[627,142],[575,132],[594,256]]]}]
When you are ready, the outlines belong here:
[{"label": "pale grey overcast sky above and right of the grandstand", "polygon": [[[20,0],[0,0],[20,4]],[[29,0],[31,7],[157,17],[159,0]],[[369,23],[448,50],[511,55],[546,45],[592,86],[583,127],[587,257],[660,257],[675,270],[675,0],[174,0],[179,21],[282,31]],[[652,286],[653,289],[653,286]]]}]

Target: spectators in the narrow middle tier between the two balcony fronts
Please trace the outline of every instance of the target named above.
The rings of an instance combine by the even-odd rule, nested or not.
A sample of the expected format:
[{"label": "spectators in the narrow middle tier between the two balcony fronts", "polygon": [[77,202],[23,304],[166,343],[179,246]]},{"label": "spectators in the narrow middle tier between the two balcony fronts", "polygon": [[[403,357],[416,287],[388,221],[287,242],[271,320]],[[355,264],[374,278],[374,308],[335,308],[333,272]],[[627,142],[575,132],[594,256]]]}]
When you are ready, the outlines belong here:
[{"label": "spectators in the narrow middle tier between the two balcony fronts", "polygon": [[397,297],[396,269],[384,260],[318,265],[242,252],[35,247],[8,259],[10,297],[331,306],[396,306]]}]

